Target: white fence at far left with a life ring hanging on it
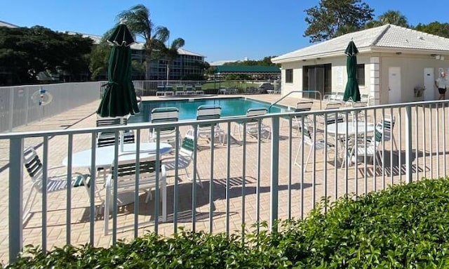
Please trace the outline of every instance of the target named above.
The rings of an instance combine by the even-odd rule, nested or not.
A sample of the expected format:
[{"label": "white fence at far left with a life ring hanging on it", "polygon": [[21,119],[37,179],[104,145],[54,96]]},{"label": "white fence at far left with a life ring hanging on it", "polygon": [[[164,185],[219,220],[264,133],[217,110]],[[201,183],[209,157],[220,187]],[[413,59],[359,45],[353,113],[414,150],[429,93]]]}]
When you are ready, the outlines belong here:
[{"label": "white fence at far left with a life ring hanging on it", "polygon": [[99,81],[0,87],[0,132],[99,100],[99,89]]}]

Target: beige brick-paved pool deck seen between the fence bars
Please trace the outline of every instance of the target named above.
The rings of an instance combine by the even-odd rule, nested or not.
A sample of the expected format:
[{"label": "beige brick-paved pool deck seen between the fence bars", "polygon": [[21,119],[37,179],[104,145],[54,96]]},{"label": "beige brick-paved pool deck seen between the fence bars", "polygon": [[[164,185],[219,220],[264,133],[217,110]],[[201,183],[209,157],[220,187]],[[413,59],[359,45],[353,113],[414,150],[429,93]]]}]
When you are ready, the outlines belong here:
[{"label": "beige brick-paved pool deck seen between the fence bars", "polygon": [[[267,102],[273,102],[278,100],[280,96],[277,95],[253,95],[248,96],[257,100],[264,100]],[[154,99],[155,97],[145,98],[144,100]],[[35,122],[28,126],[22,126],[15,131],[46,131],[55,129],[79,129],[95,126],[95,110],[98,107],[100,101],[93,102],[88,105],[83,105],[74,110],[62,113],[57,117],[51,117],[42,122]],[[286,98],[281,104],[295,106],[297,102],[296,98]],[[319,103],[314,104],[314,109],[319,109]],[[422,108],[420,108],[421,110]],[[448,109],[445,109],[445,114],[449,115]],[[447,119],[446,119],[447,121]],[[405,122],[401,121],[401,129],[405,128]],[[442,125],[440,125],[442,126]],[[447,133],[449,124],[446,124],[443,133]],[[231,126],[233,131],[234,126]],[[227,130],[227,126],[222,126],[222,129]],[[297,147],[299,146],[300,139],[293,130],[292,140],[292,159],[288,159],[288,124],[285,122],[281,127],[280,138],[280,152],[285,152],[279,157],[279,218],[288,218],[288,165],[292,165],[292,182],[290,185],[291,190],[291,216],[294,218],[300,218],[301,216],[307,216],[307,212],[312,208],[314,202],[319,202],[321,197],[328,196],[331,200],[335,199],[335,196],[340,197],[344,193],[357,192],[362,194],[363,192],[369,192],[371,190],[380,190],[384,186],[391,183],[399,183],[404,181],[405,178],[405,145],[403,142],[398,149],[398,155],[401,155],[402,164],[398,164],[398,155],[390,155],[390,143],[387,143],[385,150],[385,170],[382,173],[380,169],[373,169],[373,165],[368,165],[367,169],[364,166],[350,166],[349,169],[335,169],[333,162],[333,153],[330,153],[328,162],[324,162],[323,155],[317,151],[316,155],[316,167],[312,169],[313,161],[309,162],[307,173],[304,174],[304,185],[300,183],[300,169],[297,166],[293,166],[293,160]],[[185,130],[182,130],[182,134]],[[396,140],[398,139],[398,128],[395,130]],[[422,147],[423,138],[422,131],[417,132],[418,140],[413,141],[418,143],[418,149]],[[434,138],[436,140],[437,132],[434,131]],[[142,138],[146,140],[146,133],[142,133]],[[449,136],[445,136],[445,145],[449,145]],[[402,138],[403,141],[405,138]],[[427,138],[429,139],[429,138]],[[439,137],[441,140],[442,138]],[[426,140],[427,141],[427,140]],[[247,229],[250,224],[257,221],[256,214],[256,189],[257,189],[257,141],[249,140],[247,143],[247,156],[246,159],[246,179],[244,188],[246,195],[242,195],[242,146],[238,139],[238,136],[231,137],[231,158],[229,159],[229,192],[226,194],[226,182],[227,182],[227,145],[215,146],[215,162],[214,175],[211,179],[209,176],[210,171],[210,150],[201,150],[197,155],[199,175],[203,181],[203,188],[199,186],[196,188],[196,208],[194,209],[194,215],[196,216],[195,228],[196,230],[209,230],[209,211],[212,208],[213,211],[213,232],[223,232],[227,229],[226,216],[229,214],[229,231],[241,230],[241,220],[245,219]],[[37,138],[27,138],[25,140],[25,147],[40,145],[38,147],[38,154],[42,155],[42,140]],[[427,143],[427,142],[424,142]],[[429,142],[431,143],[431,142]],[[91,137],[86,135],[74,136],[74,152],[79,150],[85,150],[91,145]],[[437,152],[436,145],[431,144],[433,152]],[[440,149],[438,152],[445,152],[442,147],[441,141]],[[399,147],[400,145],[398,145]],[[428,147],[428,149],[430,146]],[[0,220],[0,261],[8,261],[8,156],[9,145],[7,140],[0,140],[0,180],[4,183],[4,188],[0,190],[0,214],[3,216]],[[304,155],[307,155],[309,147],[306,147]],[[56,136],[50,138],[49,152],[51,159],[48,166],[60,165],[62,159],[67,155],[67,137]],[[253,157],[254,156],[254,157]],[[259,192],[260,192],[260,208],[259,214],[261,220],[269,220],[270,214],[270,169],[272,160],[271,157],[271,140],[264,140],[261,145],[261,173],[259,178]],[[394,156],[392,162],[390,157]],[[441,169],[436,171],[435,166],[429,166],[430,159],[433,163],[436,163],[436,155],[430,156],[429,152],[417,152],[415,155],[418,159],[414,162],[416,165],[413,167],[414,171],[418,171],[419,176],[445,174],[445,171]],[[427,161],[424,162],[424,157],[427,157]],[[414,157],[415,158],[415,157]],[[447,162],[447,158],[443,159],[442,155],[438,156],[439,162]],[[391,163],[393,166],[391,166]],[[391,166],[391,167],[390,167]],[[325,169],[326,168],[326,169]],[[431,171],[433,170],[433,171]],[[75,170],[76,171],[76,170]],[[314,171],[314,172],[313,172]],[[62,173],[65,170],[62,169]],[[86,172],[86,171],[83,171]],[[25,173],[24,173],[25,174]],[[173,177],[174,171],[168,173],[168,221],[166,223],[159,223],[159,233],[162,235],[173,234]],[[324,182],[325,175],[327,181]],[[344,180],[347,178],[347,181]],[[415,175],[414,175],[415,178]],[[185,178],[184,171],[180,170],[180,185],[179,185],[179,209],[178,209],[178,226],[183,226],[186,229],[192,229],[192,183]],[[213,184],[213,202],[209,202],[209,190],[210,185]],[[30,179],[27,175],[24,176],[24,198],[30,190]],[[326,192],[325,192],[326,190]],[[38,196],[39,197],[39,196]],[[48,249],[53,246],[63,246],[66,242],[66,210],[65,210],[65,192],[55,192],[48,195],[48,228],[47,228],[47,242]],[[229,197],[229,207],[227,207],[227,197]],[[243,197],[245,199],[245,211],[242,211]],[[303,206],[301,205],[301,199],[303,199]],[[99,205],[100,201],[96,201]],[[41,244],[41,207],[39,203],[33,205],[34,214],[25,223],[23,240],[24,246],[27,244]],[[212,206],[212,207],[210,207]],[[142,221],[154,221],[152,212],[154,210],[154,201],[150,201],[145,204],[145,196],[140,196],[140,211],[139,220]],[[119,216],[117,223],[119,227],[133,223],[133,204],[128,206],[121,206],[119,209]],[[72,190],[72,244],[79,245],[85,244],[89,240],[89,204],[88,197],[86,196],[83,188],[74,188]],[[139,230],[139,235],[144,234],[147,231],[154,230],[153,223],[146,225],[145,228]],[[119,232],[119,238],[125,238],[130,240],[133,238],[133,230],[129,229],[123,232]],[[103,235],[103,219],[102,216],[98,217],[95,221],[95,242],[96,246],[107,247],[111,243],[112,237],[110,235]]]}]

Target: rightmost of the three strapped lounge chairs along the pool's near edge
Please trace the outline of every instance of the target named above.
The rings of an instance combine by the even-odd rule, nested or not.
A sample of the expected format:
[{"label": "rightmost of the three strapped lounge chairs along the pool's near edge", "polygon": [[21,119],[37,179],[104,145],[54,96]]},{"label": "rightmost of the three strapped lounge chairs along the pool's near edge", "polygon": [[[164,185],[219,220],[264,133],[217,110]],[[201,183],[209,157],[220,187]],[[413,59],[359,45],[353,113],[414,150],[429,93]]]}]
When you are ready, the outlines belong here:
[{"label": "rightmost of the three strapped lounge chairs along the pool's near edge", "polygon": [[[267,114],[268,110],[265,107],[253,107],[248,109],[246,112],[246,117],[255,117]],[[262,119],[248,119],[243,122],[238,122],[236,126],[234,126],[234,133],[236,127],[239,128],[239,138],[241,139],[241,131],[243,130],[243,126],[246,124],[246,133],[248,135],[253,136],[255,138],[259,138],[259,126],[260,126],[260,138],[269,138],[272,133],[272,128],[267,124],[263,124]],[[264,136],[265,135],[265,136]]]}]

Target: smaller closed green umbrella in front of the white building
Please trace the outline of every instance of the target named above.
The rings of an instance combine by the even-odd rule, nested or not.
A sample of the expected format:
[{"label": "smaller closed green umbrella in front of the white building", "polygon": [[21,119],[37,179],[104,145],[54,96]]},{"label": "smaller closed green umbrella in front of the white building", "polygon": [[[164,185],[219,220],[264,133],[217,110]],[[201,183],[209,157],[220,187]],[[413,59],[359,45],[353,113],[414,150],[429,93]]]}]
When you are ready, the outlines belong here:
[{"label": "smaller closed green umbrella in front of the white building", "polygon": [[347,101],[351,99],[354,102],[360,101],[360,90],[358,89],[358,79],[357,79],[357,53],[358,49],[354,41],[349,41],[349,44],[344,51],[347,55],[346,59],[346,70],[348,73],[348,81],[346,88],[344,89],[343,100]]}]

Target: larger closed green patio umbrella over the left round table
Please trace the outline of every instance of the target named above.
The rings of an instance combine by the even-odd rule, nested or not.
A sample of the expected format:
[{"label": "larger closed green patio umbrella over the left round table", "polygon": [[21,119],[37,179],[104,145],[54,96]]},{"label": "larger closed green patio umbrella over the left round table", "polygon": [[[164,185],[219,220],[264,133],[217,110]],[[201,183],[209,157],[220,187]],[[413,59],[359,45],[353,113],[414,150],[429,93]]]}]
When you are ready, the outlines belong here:
[{"label": "larger closed green patio umbrella over the left round table", "polygon": [[120,23],[107,39],[114,46],[109,56],[107,85],[97,114],[101,117],[123,117],[139,112],[133,81],[131,80],[131,50],[133,35]]}]

